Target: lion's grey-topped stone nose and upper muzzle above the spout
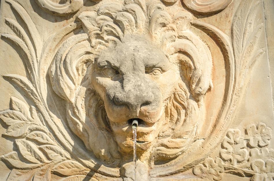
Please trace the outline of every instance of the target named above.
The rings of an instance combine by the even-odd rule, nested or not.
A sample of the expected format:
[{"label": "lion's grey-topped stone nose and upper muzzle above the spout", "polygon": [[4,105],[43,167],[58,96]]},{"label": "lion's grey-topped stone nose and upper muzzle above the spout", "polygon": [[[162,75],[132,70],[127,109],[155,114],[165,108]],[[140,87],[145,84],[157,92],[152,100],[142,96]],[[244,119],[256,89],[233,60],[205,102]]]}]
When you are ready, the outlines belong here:
[{"label": "lion's grey-topped stone nose and upper muzzle above the spout", "polygon": [[109,91],[107,96],[111,106],[106,111],[113,122],[139,118],[154,123],[159,117],[162,98],[152,81],[136,77],[130,81],[124,79],[121,89]]}]

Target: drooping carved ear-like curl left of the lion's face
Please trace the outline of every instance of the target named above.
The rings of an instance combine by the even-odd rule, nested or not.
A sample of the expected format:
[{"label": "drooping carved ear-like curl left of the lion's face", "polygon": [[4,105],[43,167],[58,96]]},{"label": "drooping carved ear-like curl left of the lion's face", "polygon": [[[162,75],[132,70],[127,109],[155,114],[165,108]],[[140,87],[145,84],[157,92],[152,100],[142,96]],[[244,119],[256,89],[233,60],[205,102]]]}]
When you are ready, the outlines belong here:
[{"label": "drooping carved ear-like curl left of the lion's face", "polygon": [[74,102],[76,89],[86,73],[87,64],[94,59],[87,34],[73,35],[63,42],[50,70],[54,92],[68,102]]}]

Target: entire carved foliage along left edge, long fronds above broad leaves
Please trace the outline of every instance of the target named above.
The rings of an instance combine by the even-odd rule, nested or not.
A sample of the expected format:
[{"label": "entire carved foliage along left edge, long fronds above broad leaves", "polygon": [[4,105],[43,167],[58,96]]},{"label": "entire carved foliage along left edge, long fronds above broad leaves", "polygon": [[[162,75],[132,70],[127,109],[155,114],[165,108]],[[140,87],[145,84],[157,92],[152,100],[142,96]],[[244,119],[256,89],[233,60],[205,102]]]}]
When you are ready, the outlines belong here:
[{"label": "entire carved foliage along left edge, long fronds above broad leaves", "polygon": [[[14,168],[8,180],[50,180],[55,164],[64,160],[67,162],[63,165],[70,165],[70,168],[74,164],[70,164],[71,155],[57,142],[47,124],[51,118],[39,84],[38,67],[43,45],[40,35],[21,5],[11,0],[6,2],[22,18],[21,23],[27,24],[28,29],[23,29],[15,20],[5,18],[5,23],[15,35],[1,33],[1,38],[11,41],[20,50],[18,53],[27,65],[30,80],[19,75],[4,77],[21,87],[34,104],[11,97],[10,109],[0,111],[0,119],[7,125],[4,135],[14,139],[14,146],[18,150],[1,155],[0,159]],[[79,169],[79,164],[75,167]]]}]

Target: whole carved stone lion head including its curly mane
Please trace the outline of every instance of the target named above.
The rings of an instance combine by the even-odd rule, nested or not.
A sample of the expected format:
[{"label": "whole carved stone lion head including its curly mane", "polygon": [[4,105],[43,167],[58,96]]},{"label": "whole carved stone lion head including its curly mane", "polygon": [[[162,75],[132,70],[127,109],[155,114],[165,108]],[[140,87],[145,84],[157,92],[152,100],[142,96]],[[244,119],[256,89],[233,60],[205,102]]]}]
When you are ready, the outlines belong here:
[{"label": "whole carved stone lion head including its curly mane", "polygon": [[72,132],[109,163],[132,152],[133,118],[140,159],[187,150],[212,88],[211,52],[189,28],[192,14],[168,13],[158,0],[125,0],[101,1],[77,17],[82,30],[60,45],[50,70]]}]

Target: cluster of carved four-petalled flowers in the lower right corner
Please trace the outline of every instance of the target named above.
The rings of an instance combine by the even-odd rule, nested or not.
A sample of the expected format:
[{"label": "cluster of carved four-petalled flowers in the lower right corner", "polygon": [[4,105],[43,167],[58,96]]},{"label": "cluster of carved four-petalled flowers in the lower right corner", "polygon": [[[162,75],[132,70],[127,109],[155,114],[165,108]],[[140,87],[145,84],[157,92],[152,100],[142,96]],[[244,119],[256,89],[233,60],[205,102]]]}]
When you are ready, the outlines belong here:
[{"label": "cluster of carved four-petalled flowers in the lower right corner", "polygon": [[[272,180],[274,172],[274,149],[263,147],[250,147],[248,142],[243,140],[250,132],[251,127],[267,128],[264,123],[251,124],[245,129],[245,135],[241,135],[239,129],[230,129],[222,142],[220,157],[214,159],[206,158],[201,164],[193,168],[193,173],[201,178],[209,180],[221,180],[223,173],[235,174],[241,177],[249,176],[251,180]],[[257,129],[258,130],[258,129]],[[256,137],[258,140],[264,135]],[[250,138],[254,139],[254,138]],[[247,137],[248,140],[248,137]],[[270,140],[270,139],[269,139]],[[268,141],[269,141],[268,140]],[[250,141],[250,140],[249,140]]]}]

